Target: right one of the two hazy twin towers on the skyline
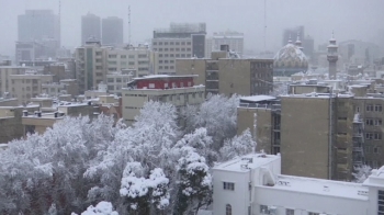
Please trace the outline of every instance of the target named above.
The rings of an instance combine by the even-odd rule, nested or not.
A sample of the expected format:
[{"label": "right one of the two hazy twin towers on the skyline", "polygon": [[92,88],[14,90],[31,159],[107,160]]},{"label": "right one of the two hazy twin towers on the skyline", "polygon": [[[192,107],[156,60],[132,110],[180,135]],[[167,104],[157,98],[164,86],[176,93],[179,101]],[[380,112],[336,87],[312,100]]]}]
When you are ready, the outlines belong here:
[{"label": "right one of the two hazy twin towers on the skyline", "polygon": [[110,16],[102,19],[102,44],[120,46],[123,44],[123,19]]}]

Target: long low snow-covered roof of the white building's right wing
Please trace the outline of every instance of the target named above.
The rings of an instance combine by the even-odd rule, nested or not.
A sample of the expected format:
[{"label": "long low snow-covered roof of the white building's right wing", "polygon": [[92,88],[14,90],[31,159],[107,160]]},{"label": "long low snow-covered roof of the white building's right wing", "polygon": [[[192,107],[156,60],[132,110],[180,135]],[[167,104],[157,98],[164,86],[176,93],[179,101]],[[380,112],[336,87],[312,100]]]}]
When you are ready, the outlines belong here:
[{"label": "long low snow-covered roof of the white building's right wing", "polygon": [[302,193],[314,193],[346,199],[368,200],[368,188],[359,183],[340,182],[314,178],[278,176],[271,189],[287,190]]}]

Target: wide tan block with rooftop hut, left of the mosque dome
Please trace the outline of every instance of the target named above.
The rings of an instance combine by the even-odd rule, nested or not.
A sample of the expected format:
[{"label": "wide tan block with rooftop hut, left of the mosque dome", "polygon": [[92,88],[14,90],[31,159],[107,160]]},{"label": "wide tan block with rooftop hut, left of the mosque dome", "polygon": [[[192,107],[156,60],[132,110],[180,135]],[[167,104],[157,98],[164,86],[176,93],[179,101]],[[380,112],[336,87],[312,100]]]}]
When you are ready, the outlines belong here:
[{"label": "wide tan block with rooftop hut, left of the mosque dome", "polygon": [[210,59],[177,59],[176,67],[177,75],[197,75],[195,84],[206,93],[255,95],[273,89],[273,59],[239,59],[222,50]]}]

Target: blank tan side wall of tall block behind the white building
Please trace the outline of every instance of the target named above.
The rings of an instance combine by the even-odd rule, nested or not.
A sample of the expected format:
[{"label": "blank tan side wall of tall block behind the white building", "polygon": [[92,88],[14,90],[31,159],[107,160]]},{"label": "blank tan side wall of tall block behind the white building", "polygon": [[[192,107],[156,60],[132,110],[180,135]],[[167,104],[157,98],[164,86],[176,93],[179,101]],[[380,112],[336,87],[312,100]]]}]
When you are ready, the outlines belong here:
[{"label": "blank tan side wall of tall block behind the white building", "polygon": [[281,101],[282,173],[328,179],[329,99]]}]

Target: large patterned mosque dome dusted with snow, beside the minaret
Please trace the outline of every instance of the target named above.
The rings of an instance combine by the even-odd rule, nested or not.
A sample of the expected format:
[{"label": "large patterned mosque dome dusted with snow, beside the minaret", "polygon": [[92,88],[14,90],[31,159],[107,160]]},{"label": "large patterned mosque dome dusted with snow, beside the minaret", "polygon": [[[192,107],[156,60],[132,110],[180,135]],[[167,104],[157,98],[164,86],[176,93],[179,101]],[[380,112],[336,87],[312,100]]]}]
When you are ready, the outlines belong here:
[{"label": "large patterned mosque dome dusted with snow, beside the minaret", "polygon": [[274,56],[273,75],[291,76],[308,70],[308,60],[301,47],[289,43]]}]

